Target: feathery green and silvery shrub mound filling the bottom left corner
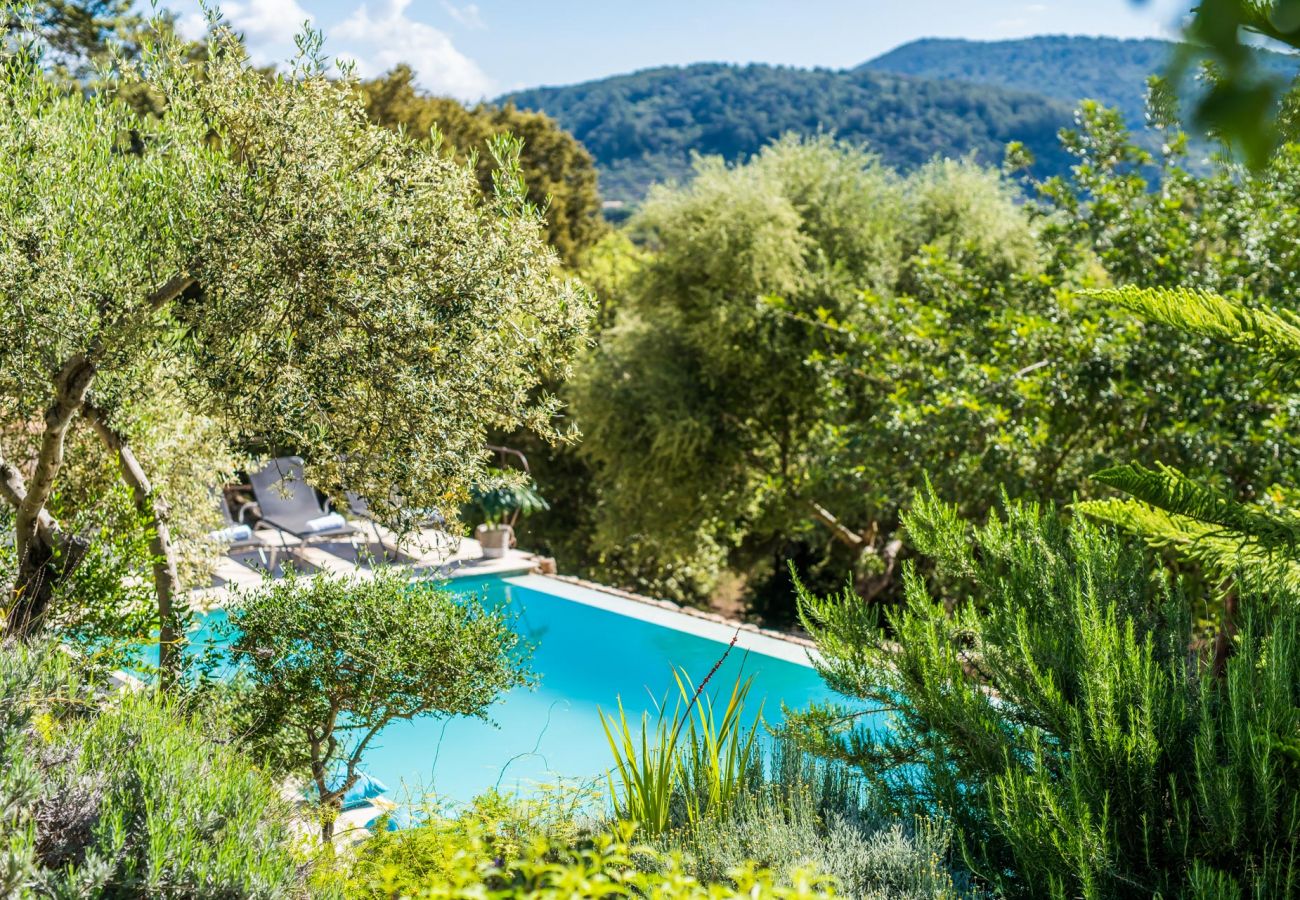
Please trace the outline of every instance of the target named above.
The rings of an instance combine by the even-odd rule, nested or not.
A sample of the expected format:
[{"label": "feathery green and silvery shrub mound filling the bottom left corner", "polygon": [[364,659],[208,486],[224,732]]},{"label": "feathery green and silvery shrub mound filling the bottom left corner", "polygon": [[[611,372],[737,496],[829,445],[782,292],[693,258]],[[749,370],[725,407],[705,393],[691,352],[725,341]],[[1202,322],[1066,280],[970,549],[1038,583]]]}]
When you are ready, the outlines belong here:
[{"label": "feathery green and silvery shrub mound filling the bottom left corner", "polygon": [[304,896],[265,775],[143,693],[104,696],[55,646],[0,646],[0,893]]}]

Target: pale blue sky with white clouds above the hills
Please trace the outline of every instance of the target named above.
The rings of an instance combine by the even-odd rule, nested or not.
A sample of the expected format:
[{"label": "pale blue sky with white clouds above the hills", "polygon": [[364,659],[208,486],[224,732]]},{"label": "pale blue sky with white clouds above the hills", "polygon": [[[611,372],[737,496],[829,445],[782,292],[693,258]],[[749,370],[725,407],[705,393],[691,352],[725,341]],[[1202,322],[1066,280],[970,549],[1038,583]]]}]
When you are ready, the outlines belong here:
[{"label": "pale blue sky with white clouds above the hills", "polygon": [[[162,0],[182,31],[198,0]],[[257,62],[283,62],[311,21],[364,78],[408,62],[462,100],[655,65],[772,62],[841,69],[918,38],[1036,34],[1169,38],[1190,0],[225,0]]]}]

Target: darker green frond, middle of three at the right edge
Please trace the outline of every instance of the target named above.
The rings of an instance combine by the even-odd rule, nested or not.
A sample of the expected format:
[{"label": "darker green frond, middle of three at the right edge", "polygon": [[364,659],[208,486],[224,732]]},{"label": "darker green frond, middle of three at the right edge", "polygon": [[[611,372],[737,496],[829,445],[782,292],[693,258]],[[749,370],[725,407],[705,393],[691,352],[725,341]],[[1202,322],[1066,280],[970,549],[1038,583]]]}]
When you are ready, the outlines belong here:
[{"label": "darker green frond, middle of three at the right edge", "polygon": [[1162,463],[1153,470],[1140,463],[1114,466],[1092,477],[1157,510],[1204,525],[1217,525],[1261,549],[1296,555],[1300,548],[1300,516],[1277,515],[1243,503]]}]

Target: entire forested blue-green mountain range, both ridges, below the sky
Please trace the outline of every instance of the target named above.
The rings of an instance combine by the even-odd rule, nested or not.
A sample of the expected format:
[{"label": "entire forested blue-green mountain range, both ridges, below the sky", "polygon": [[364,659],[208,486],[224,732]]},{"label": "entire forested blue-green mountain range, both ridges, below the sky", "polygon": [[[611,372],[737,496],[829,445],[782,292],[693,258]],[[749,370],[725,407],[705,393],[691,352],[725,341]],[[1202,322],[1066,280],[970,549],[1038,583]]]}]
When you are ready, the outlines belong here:
[{"label": "entire forested blue-green mountain range, both ridges, below the sky", "polygon": [[[1036,174],[1063,172],[1057,130],[1079,100],[1118,107],[1143,129],[1147,79],[1167,62],[1167,40],[1045,35],[1023,40],[926,39],[855,69],[698,64],[646,69],[500,98],[559,120],[595,159],[601,192],[636,202],[655,181],[690,173],[690,155],[742,160],[786,131],[866,142],[898,168],[935,155],[997,164],[1008,142],[1037,157]],[[1294,75],[1300,57],[1260,51]],[[1139,135],[1156,146],[1156,134]],[[1201,144],[1197,144],[1201,146]]]}]

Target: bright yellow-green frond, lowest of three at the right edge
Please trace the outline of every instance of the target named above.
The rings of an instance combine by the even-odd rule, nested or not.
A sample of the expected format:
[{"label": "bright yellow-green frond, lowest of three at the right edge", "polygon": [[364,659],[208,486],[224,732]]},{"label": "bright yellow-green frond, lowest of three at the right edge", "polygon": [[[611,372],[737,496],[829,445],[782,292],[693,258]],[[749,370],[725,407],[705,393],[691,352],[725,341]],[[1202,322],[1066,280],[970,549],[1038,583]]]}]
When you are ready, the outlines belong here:
[{"label": "bright yellow-green frond, lowest of three at the right edge", "polygon": [[1173,549],[1221,576],[1256,570],[1274,575],[1291,589],[1300,589],[1300,559],[1221,525],[1166,512],[1136,499],[1084,501],[1074,509],[1131,532],[1149,546]]}]

